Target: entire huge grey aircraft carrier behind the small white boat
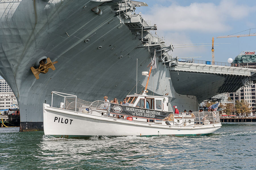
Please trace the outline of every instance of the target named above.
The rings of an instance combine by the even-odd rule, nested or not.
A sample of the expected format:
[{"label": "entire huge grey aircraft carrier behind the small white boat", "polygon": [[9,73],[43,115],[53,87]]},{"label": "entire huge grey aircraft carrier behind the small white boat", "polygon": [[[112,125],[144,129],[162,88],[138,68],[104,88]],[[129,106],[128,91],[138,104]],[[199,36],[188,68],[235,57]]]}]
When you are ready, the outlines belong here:
[{"label": "entire huge grey aircraft carrier behind the small white boat", "polygon": [[[146,84],[141,75],[156,51],[149,94],[168,95],[169,110],[197,110],[218,93],[255,81],[255,70],[178,62],[157,26],[130,0],[0,1],[0,75],[20,108],[20,131],[43,130],[43,103],[51,91],[93,101],[124,98]],[[150,18],[147,18],[150,19]],[[113,96],[111,96],[113,95]],[[61,100],[55,100],[59,104]]]}]

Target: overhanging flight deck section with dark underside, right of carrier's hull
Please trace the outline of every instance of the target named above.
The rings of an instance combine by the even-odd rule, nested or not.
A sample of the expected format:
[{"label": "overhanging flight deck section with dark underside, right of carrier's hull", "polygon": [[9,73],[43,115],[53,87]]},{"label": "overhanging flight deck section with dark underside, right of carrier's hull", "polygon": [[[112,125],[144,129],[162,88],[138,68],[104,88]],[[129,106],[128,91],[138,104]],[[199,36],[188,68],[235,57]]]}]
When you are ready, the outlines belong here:
[{"label": "overhanging flight deck section with dark underside, right of carrier's hull", "polygon": [[176,92],[196,96],[199,102],[220,93],[237,91],[256,80],[256,69],[178,61],[168,64]]}]

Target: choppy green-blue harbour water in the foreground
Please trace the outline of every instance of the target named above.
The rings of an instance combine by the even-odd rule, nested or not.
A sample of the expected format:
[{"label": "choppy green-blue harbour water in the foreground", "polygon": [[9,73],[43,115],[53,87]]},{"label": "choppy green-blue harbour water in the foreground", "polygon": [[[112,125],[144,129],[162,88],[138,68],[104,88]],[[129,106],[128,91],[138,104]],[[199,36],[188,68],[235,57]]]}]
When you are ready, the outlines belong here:
[{"label": "choppy green-blue harbour water in the foreground", "polygon": [[256,122],[204,137],[60,139],[0,128],[0,169],[256,169]]}]

